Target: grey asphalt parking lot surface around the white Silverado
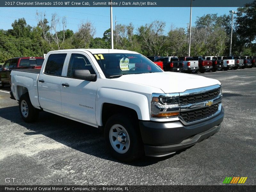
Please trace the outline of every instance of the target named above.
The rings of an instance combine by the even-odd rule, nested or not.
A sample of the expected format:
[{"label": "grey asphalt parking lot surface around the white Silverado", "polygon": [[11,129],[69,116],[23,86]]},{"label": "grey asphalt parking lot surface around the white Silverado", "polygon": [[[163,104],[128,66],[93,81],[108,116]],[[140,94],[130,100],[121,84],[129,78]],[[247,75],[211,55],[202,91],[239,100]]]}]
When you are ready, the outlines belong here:
[{"label": "grey asphalt parking lot surface around the white Silverado", "polygon": [[[174,155],[133,163],[113,159],[93,127],[46,112],[25,123],[10,87],[0,88],[0,185],[221,185],[228,176],[255,185],[256,68],[197,75],[223,85],[220,132]],[[6,183],[11,177],[30,182]]]}]

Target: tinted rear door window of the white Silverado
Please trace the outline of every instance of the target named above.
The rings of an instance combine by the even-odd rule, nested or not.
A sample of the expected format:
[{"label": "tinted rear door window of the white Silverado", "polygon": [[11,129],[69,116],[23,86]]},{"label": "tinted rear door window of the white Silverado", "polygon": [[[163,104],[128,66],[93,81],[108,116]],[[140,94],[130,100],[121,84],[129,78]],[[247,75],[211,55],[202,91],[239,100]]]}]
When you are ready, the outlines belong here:
[{"label": "tinted rear door window of the white Silverado", "polygon": [[51,54],[48,57],[44,73],[48,75],[61,76],[64,61],[66,59],[67,53],[57,53]]}]

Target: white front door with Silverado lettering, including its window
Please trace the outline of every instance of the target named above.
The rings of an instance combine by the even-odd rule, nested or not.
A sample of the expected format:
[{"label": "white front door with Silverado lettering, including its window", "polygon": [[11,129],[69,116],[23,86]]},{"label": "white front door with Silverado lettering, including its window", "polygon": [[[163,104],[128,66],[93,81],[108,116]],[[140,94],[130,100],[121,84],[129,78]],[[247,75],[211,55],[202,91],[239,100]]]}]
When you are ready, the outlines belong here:
[{"label": "white front door with Silverado lettering, including its window", "polygon": [[[77,79],[73,76],[76,69],[87,69],[91,74],[97,70],[90,57],[84,52],[72,52],[61,81],[62,110],[65,116],[96,125],[96,81]],[[66,86],[65,86],[66,85]]]}]

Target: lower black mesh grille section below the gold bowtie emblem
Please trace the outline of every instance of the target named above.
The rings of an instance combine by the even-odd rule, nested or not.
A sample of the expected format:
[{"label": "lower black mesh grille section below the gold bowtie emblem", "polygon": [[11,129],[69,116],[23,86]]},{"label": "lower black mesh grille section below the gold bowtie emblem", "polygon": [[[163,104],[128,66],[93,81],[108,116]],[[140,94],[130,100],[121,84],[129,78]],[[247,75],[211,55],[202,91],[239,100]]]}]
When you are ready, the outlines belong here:
[{"label": "lower black mesh grille section below the gold bowtie emblem", "polygon": [[180,112],[180,116],[185,122],[191,123],[212,116],[218,111],[219,105],[216,103],[210,107]]}]

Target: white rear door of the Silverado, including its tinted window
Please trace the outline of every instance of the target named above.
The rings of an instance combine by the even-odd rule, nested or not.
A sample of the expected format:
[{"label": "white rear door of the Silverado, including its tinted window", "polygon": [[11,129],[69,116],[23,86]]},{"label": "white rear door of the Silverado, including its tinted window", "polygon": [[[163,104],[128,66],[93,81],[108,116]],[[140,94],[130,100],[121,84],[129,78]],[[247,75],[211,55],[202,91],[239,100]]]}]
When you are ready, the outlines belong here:
[{"label": "white rear door of the Silverado, including its tinted window", "polygon": [[46,57],[46,64],[38,77],[38,100],[44,110],[63,114],[61,108],[61,81],[69,52],[54,52]]}]

